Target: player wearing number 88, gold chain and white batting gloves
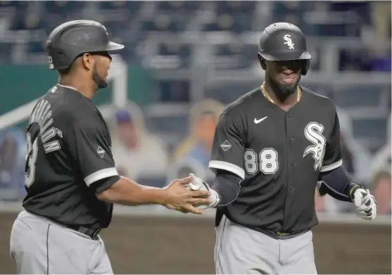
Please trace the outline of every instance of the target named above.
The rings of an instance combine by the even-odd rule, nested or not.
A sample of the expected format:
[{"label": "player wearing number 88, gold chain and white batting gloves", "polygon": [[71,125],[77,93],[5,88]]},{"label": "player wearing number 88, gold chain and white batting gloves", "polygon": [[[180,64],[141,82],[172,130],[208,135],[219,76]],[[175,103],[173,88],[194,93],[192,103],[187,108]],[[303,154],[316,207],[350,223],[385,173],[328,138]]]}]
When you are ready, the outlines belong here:
[{"label": "player wearing number 88, gold chain and white batting gloves", "polygon": [[312,245],[315,188],[355,203],[374,219],[374,197],[343,169],[339,118],[329,98],[301,87],[310,54],[301,30],[275,23],[261,34],[265,82],[227,106],[217,123],[209,167],[217,207],[217,274],[316,274]]}]

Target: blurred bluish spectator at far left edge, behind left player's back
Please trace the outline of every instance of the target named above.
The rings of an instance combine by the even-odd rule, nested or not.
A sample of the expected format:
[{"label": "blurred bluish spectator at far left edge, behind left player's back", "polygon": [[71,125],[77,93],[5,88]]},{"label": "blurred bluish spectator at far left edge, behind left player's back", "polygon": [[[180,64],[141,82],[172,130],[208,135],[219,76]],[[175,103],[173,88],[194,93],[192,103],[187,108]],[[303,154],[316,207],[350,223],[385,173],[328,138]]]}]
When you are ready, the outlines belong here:
[{"label": "blurred bluish spectator at far left edge, behind left player's back", "polygon": [[0,200],[25,196],[25,134],[19,128],[0,134]]}]

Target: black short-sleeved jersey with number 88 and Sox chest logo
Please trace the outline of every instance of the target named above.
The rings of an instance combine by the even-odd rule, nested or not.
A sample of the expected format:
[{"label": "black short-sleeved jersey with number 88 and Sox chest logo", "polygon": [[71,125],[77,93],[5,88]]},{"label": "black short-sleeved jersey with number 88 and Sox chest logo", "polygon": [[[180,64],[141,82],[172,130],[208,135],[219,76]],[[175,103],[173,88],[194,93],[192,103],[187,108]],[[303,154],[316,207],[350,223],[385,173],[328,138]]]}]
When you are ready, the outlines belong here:
[{"label": "black short-sleeved jersey with number 88 and Sox chest logo", "polygon": [[339,135],[334,105],[308,89],[302,88],[301,100],[287,112],[260,89],[241,96],[220,116],[209,164],[241,177],[241,191],[217,212],[254,229],[314,226],[320,172],[342,164]]}]

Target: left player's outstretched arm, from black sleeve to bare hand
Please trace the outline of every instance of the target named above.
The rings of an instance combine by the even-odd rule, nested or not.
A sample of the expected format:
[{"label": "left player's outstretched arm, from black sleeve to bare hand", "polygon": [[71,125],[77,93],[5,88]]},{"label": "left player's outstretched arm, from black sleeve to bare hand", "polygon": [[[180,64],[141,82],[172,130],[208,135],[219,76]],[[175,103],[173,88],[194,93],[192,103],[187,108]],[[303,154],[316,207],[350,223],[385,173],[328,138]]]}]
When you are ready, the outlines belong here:
[{"label": "left player's outstretched arm, from black sleeve to bare hand", "polygon": [[[148,188],[125,177],[119,177],[110,149],[110,134],[102,123],[79,120],[72,124],[65,139],[77,162],[84,183],[91,187],[100,200],[122,205],[160,204],[172,210],[201,214],[193,203],[209,203],[208,191],[186,190],[190,177],[172,181],[165,188]],[[97,153],[98,152],[98,153]]]}]

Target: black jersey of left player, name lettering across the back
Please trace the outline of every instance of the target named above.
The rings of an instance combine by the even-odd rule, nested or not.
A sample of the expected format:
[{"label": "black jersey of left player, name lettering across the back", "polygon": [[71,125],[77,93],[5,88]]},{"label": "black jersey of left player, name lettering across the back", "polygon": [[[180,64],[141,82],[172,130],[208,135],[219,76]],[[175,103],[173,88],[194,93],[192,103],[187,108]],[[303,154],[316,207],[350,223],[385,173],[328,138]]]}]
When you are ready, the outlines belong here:
[{"label": "black jersey of left player, name lettering across the back", "polygon": [[119,179],[108,127],[89,98],[56,85],[27,127],[25,210],[67,226],[104,228],[113,205],[96,192]]}]

